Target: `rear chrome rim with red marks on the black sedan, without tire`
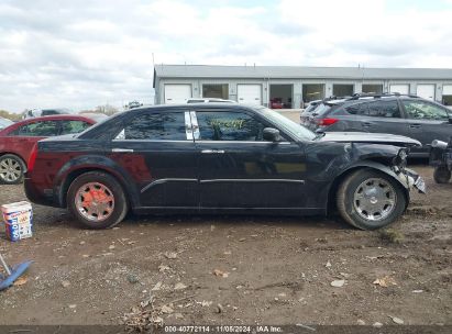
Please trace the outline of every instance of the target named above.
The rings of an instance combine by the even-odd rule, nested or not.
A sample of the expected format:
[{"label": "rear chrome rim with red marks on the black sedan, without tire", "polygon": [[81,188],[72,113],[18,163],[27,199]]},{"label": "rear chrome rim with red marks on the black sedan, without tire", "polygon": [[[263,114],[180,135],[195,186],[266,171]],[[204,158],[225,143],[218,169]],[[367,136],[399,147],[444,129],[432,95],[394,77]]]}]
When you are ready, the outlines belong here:
[{"label": "rear chrome rim with red marks on the black sedan, without tire", "polygon": [[89,182],[77,190],[75,204],[85,219],[101,222],[113,213],[114,196],[104,185]]}]

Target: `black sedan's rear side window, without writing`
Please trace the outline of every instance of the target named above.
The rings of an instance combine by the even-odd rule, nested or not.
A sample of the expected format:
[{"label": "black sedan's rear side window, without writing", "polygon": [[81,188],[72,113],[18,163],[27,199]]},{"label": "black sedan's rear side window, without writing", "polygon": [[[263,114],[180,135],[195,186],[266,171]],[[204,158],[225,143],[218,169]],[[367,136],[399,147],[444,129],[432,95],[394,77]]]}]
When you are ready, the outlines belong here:
[{"label": "black sedan's rear side window, without writing", "polygon": [[135,116],[117,140],[186,141],[183,112],[145,113]]}]

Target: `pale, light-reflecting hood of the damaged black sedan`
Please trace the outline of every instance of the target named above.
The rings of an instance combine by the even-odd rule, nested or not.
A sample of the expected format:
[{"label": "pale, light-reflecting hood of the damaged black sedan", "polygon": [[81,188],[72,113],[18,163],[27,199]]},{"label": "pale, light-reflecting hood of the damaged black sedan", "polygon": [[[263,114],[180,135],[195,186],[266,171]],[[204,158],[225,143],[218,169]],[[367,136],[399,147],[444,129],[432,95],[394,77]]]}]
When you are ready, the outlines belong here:
[{"label": "pale, light-reflecting hood of the damaged black sedan", "polygon": [[326,132],[319,141],[338,143],[375,143],[396,146],[422,146],[419,141],[410,137],[387,133],[368,132]]}]

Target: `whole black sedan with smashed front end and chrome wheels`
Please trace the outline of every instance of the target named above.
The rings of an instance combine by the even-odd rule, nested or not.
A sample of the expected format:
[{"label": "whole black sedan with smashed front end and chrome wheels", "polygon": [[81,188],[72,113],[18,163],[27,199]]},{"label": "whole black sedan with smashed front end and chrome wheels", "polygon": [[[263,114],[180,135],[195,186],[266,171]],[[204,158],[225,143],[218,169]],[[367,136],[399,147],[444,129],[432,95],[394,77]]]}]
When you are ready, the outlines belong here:
[{"label": "whole black sedan with smashed front end and chrome wheels", "polygon": [[[389,144],[389,145],[387,145]],[[40,141],[25,192],[86,226],[135,213],[327,214],[373,230],[400,216],[415,185],[407,147],[368,134],[316,135],[263,107],[139,108],[78,135]]]}]

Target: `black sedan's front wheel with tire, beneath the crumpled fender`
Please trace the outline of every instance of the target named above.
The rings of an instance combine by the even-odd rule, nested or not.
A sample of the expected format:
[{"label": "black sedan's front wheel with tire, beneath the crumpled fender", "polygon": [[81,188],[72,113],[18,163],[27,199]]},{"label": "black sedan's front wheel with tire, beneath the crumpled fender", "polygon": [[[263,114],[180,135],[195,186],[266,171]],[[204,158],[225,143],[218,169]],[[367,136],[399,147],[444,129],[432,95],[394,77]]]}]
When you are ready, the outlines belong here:
[{"label": "black sedan's front wheel with tire, beneath the crumpled fender", "polygon": [[404,213],[407,197],[390,176],[360,169],[340,185],[337,204],[349,224],[361,230],[376,230],[393,223]]}]

